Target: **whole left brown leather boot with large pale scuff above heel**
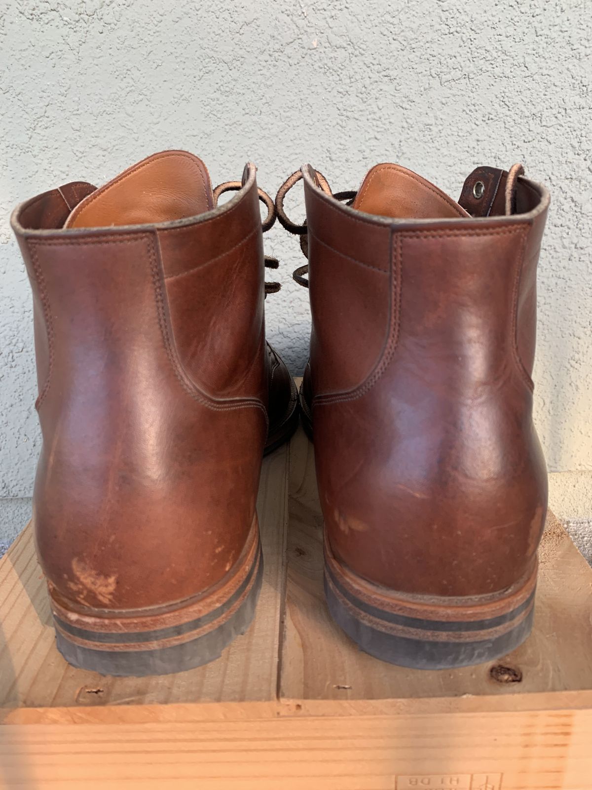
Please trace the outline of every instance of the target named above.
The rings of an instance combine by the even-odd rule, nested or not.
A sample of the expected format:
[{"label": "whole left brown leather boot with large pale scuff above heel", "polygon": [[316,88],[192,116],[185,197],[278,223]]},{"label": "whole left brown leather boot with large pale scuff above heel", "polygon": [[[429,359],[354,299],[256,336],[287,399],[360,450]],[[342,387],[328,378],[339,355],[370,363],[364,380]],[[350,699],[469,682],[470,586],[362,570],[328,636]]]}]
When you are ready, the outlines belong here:
[{"label": "whole left brown leather boot with large pale scuff above heel", "polygon": [[204,164],[169,151],[13,214],[43,432],[33,525],[77,667],[179,672],[253,617],[261,457],[294,430],[297,396],[265,343],[254,165],[227,189],[217,208]]}]

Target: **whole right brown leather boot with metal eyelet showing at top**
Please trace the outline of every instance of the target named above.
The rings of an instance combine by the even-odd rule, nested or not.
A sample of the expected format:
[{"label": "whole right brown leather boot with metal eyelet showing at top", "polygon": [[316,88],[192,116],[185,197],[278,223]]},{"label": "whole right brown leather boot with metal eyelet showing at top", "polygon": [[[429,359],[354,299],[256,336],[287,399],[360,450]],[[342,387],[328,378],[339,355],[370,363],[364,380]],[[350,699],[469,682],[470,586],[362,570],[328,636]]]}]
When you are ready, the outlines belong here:
[{"label": "whole right brown leather boot with metal eyelet showing at top", "polygon": [[456,203],[395,164],[335,196],[306,166],[276,202],[284,227],[305,232],[282,205],[304,179],[301,397],[328,605],[394,664],[478,664],[530,632],[547,506],[530,374],[549,194],[521,174],[480,167]]}]

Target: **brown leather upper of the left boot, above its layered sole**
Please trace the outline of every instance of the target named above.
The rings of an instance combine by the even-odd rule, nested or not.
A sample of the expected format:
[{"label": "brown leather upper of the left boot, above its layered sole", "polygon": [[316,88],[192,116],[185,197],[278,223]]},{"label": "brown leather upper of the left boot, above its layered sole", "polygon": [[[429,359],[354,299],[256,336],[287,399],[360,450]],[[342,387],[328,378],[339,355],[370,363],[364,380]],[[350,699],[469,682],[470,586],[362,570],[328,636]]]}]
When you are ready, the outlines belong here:
[{"label": "brown leather upper of the left boot, above its layered sole", "polygon": [[[204,213],[156,224],[92,190],[68,185],[13,215],[34,296],[36,541],[67,600],[159,606],[215,585],[257,532],[268,352],[255,167],[219,209],[188,207],[175,187],[164,213],[179,195],[180,214]],[[107,210],[143,224],[93,227]]]}]

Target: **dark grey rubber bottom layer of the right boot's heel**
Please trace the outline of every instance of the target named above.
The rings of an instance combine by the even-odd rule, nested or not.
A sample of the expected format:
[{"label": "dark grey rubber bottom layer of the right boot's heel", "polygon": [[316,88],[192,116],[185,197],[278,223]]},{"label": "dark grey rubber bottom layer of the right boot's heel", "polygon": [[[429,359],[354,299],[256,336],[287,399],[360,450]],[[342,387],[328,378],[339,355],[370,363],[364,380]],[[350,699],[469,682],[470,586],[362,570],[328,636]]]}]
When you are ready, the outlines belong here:
[{"label": "dark grey rubber bottom layer of the right boot's heel", "polygon": [[[524,619],[505,634],[479,641],[414,639],[389,634],[354,617],[335,595],[324,574],[324,592],[332,618],[365,653],[411,669],[453,669],[485,664],[510,653],[526,640],[532,630],[534,606]],[[438,630],[437,623],[433,630]]]}]

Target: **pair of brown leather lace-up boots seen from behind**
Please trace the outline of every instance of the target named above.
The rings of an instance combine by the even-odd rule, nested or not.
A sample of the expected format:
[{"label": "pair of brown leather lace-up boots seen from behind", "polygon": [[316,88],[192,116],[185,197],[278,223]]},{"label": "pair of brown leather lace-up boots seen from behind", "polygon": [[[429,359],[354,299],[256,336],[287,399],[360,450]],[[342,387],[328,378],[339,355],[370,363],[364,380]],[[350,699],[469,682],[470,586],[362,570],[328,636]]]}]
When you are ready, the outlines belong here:
[{"label": "pair of brown leather lace-up boots seen from behind", "polygon": [[[302,226],[283,210],[300,178]],[[310,166],[279,191],[309,258],[300,410],[328,605],[395,664],[477,664],[529,633],[547,498],[530,373],[548,205],[517,166],[479,167],[458,203],[395,164],[357,193],[333,195]],[[265,341],[274,219],[253,164],[212,190],[178,151],[13,214],[34,300],[36,545],[75,666],[179,672],[249,626],[261,459],[298,423]]]}]

